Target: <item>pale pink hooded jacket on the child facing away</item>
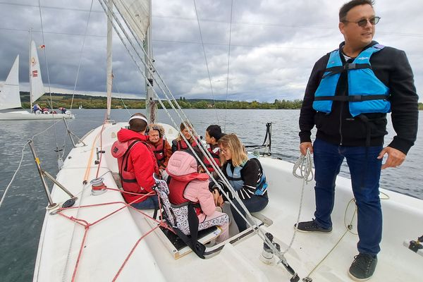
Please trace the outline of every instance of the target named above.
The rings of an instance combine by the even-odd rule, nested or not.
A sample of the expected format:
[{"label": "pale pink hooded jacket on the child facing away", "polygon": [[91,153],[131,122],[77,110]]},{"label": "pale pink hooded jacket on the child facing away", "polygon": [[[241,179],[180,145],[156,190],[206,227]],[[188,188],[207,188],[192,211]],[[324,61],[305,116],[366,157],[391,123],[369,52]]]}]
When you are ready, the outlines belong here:
[{"label": "pale pink hooded jacket on the child facing away", "polygon": [[[186,152],[176,151],[169,159],[166,171],[169,176],[173,177],[197,173],[197,161],[195,157]],[[209,180],[192,180],[185,188],[183,196],[192,202],[200,202],[203,212],[198,216],[200,222],[204,221],[206,216],[212,216],[216,211],[212,192],[209,191]]]}]

